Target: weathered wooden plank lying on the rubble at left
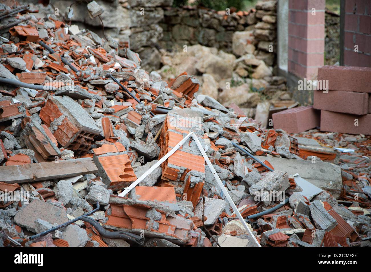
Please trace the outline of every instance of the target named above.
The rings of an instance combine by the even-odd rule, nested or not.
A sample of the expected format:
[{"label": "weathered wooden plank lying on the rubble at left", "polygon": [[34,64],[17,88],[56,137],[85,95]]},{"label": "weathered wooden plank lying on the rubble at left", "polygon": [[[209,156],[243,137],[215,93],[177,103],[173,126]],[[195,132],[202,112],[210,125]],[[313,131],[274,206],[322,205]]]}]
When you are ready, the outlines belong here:
[{"label": "weathered wooden plank lying on the rubble at left", "polygon": [[9,184],[68,178],[98,172],[92,158],[0,166],[0,182]]}]

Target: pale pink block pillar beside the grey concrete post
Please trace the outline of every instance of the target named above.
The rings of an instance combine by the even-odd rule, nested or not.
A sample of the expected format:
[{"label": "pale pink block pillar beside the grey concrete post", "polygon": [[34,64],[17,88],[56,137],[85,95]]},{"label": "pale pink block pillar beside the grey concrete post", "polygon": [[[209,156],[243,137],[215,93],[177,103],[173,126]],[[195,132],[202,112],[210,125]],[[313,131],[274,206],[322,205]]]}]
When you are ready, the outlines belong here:
[{"label": "pale pink block pillar beside the grey concrete post", "polygon": [[324,65],[325,0],[289,0],[288,50],[288,71],[315,79]]}]

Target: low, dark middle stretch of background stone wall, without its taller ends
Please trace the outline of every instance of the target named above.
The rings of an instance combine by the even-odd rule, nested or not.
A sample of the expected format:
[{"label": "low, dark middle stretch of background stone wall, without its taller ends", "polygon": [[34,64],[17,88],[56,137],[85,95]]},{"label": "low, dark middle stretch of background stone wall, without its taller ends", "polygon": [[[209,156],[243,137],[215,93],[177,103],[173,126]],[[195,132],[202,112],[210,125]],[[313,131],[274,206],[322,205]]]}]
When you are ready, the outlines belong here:
[{"label": "low, dark middle stretch of background stone wall, without its taller ends", "polygon": [[201,44],[232,53],[235,31],[244,31],[256,23],[253,11],[226,11],[197,9],[196,7],[168,8],[160,26],[164,30],[161,46],[167,50],[184,45]]}]

